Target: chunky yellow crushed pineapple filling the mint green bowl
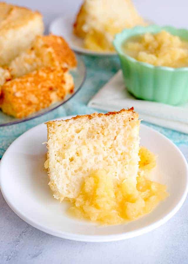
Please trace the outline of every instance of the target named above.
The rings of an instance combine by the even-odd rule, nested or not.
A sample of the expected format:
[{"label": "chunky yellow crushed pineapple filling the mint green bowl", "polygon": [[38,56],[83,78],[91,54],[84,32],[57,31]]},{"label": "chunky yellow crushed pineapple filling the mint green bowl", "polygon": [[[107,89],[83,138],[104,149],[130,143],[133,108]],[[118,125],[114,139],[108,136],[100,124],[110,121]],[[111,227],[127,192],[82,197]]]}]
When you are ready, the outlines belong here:
[{"label": "chunky yellow crushed pineapple filling the mint green bowl", "polygon": [[130,57],[155,66],[188,67],[188,42],[164,30],[132,37],[123,49]]}]

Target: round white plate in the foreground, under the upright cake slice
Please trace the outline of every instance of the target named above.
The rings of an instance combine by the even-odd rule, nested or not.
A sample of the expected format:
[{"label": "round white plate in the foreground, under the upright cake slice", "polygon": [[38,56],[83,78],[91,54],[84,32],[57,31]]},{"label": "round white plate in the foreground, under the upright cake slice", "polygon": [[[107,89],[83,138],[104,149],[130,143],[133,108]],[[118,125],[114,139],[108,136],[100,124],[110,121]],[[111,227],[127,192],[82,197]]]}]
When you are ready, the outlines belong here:
[{"label": "round white plate in the foreground, under the upright cake slice", "polygon": [[[70,117],[66,117],[70,118]],[[30,225],[58,237],[79,241],[115,241],[141,235],[169,220],[182,206],[188,191],[188,166],[169,139],[141,125],[141,145],[158,155],[154,178],[166,184],[170,196],[149,215],[124,225],[101,227],[70,218],[68,204],[52,197],[43,167],[46,125],[31,128],[17,138],[0,163],[1,192],[11,209]]]}]

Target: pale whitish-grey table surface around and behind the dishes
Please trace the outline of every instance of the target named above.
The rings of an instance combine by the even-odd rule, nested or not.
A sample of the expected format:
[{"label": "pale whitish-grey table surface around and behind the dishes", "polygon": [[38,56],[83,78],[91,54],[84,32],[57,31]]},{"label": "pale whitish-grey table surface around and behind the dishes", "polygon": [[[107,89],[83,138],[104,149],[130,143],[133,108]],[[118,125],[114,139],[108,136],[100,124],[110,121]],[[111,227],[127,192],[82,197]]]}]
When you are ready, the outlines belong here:
[{"label": "pale whitish-grey table surface around and behind the dishes", "polygon": [[[47,28],[58,15],[75,13],[81,0],[9,2],[41,11]],[[187,0],[134,2],[143,17],[160,25],[188,28]],[[188,160],[187,146],[180,149]],[[86,243],[53,237],[28,225],[14,214],[0,192],[0,264],[4,263],[187,264],[188,199],[171,220],[152,232],[119,242]]]}]

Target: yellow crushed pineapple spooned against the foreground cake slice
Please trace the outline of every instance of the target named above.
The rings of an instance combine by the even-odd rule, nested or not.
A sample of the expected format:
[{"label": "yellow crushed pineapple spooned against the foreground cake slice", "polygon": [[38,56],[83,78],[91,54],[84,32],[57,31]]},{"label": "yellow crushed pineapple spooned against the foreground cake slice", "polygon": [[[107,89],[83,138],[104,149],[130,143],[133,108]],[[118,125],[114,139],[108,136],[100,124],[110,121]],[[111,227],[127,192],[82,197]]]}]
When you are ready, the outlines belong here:
[{"label": "yellow crushed pineapple spooned against the foreground cake slice", "polygon": [[155,155],[144,147],[139,151],[137,184],[124,180],[114,184],[105,170],[93,171],[87,177],[69,213],[77,218],[86,218],[103,225],[116,225],[136,220],[150,213],[168,193],[166,186],[147,179],[156,166]]}]

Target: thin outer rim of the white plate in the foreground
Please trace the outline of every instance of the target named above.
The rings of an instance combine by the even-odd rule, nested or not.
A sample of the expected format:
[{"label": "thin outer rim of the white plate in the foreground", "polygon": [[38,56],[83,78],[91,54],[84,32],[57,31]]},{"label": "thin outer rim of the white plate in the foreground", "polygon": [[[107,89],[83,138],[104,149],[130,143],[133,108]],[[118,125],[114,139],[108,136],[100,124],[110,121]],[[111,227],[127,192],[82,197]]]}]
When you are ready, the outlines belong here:
[{"label": "thin outer rim of the white plate in the foreground", "polygon": [[[66,117],[63,117],[63,118],[58,118],[58,119],[55,119],[55,120],[61,120],[61,119],[69,119],[73,116],[66,116]],[[21,139],[22,137],[24,137],[28,132],[30,132],[32,129],[36,129],[37,127],[43,125],[40,124],[38,126],[35,126],[31,129],[29,129],[28,131],[26,131],[25,133],[23,133],[21,136],[19,136],[14,142],[16,142],[18,139]],[[145,125],[142,125],[141,126],[143,127],[147,127]],[[149,127],[147,127],[148,129]],[[45,225],[42,225],[42,224],[39,224],[38,222],[35,222],[33,221],[31,218],[27,217],[24,213],[22,213],[21,211],[19,211],[16,207],[14,207],[14,205],[9,202],[9,196],[4,192],[4,188],[3,188],[3,181],[2,181],[2,178],[3,178],[3,173],[1,172],[1,164],[3,163],[3,160],[6,159],[6,156],[9,155],[9,149],[11,148],[11,144],[9,146],[9,148],[5,151],[3,157],[2,157],[2,160],[0,162],[0,188],[1,188],[1,192],[3,194],[3,197],[4,199],[6,200],[7,204],[9,205],[9,207],[16,213],[16,215],[18,215],[22,220],[24,220],[25,222],[27,222],[28,224],[32,225],[33,227],[43,231],[43,232],[46,232],[50,235],[54,235],[56,237],[61,237],[61,238],[65,238],[65,239],[69,239],[69,240],[76,240],[76,241],[84,241],[84,242],[110,242],[110,241],[117,241],[117,240],[123,240],[123,239],[127,239],[127,238],[132,238],[132,237],[135,237],[135,236],[138,236],[138,235],[142,235],[142,234],[145,234],[146,232],[149,232],[151,230],[154,230],[155,228],[161,226],[162,224],[164,224],[165,222],[167,222],[179,209],[180,207],[182,206],[182,204],[184,203],[185,201],[185,198],[187,196],[187,192],[188,192],[188,164],[187,164],[187,161],[184,157],[184,155],[182,154],[182,152],[178,149],[178,147],[172,143],[172,141],[170,141],[167,137],[163,136],[161,133],[159,133],[158,131],[152,129],[152,128],[149,128],[153,133],[156,133],[158,135],[160,135],[161,137],[165,138],[169,144],[171,144],[175,149],[176,151],[179,152],[182,160],[184,161],[184,165],[186,167],[186,185],[184,187],[184,192],[182,194],[182,197],[181,199],[179,199],[179,202],[176,204],[176,206],[165,216],[163,217],[162,219],[160,220],[157,220],[156,222],[154,222],[153,224],[150,224],[146,227],[143,227],[143,228],[140,228],[138,230],[135,230],[135,231],[131,231],[131,232],[125,232],[125,233],[122,233],[122,234],[114,234],[114,235],[75,235],[73,233],[70,233],[70,232],[62,232],[62,231],[56,231],[52,228],[46,228]]]}]

